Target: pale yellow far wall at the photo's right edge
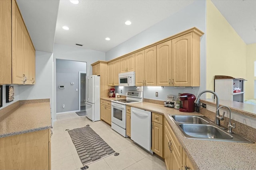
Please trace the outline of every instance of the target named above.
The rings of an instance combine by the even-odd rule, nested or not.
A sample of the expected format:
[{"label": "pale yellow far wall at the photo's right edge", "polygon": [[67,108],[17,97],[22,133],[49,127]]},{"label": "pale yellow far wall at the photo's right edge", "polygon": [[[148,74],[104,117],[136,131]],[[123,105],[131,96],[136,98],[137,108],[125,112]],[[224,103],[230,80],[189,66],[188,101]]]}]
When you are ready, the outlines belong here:
[{"label": "pale yellow far wall at the photo's right edge", "polygon": [[245,99],[254,99],[254,61],[256,61],[256,43],[246,47]]}]

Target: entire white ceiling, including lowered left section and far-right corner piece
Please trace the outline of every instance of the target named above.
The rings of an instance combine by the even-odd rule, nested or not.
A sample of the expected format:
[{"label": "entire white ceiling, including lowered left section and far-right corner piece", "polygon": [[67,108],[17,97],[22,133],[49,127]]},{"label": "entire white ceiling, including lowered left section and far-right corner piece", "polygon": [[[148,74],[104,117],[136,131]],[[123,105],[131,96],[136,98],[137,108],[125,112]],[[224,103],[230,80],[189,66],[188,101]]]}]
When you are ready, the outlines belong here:
[{"label": "entire white ceiling, including lowered left section and far-right corner piece", "polygon": [[[52,52],[54,43],[78,43],[84,45],[81,48],[106,52],[194,0],[80,0],[77,5],[69,0],[17,2],[37,51]],[[245,43],[256,43],[256,1],[212,2]],[[125,25],[126,20],[132,24]],[[62,29],[63,25],[70,30]]]}]

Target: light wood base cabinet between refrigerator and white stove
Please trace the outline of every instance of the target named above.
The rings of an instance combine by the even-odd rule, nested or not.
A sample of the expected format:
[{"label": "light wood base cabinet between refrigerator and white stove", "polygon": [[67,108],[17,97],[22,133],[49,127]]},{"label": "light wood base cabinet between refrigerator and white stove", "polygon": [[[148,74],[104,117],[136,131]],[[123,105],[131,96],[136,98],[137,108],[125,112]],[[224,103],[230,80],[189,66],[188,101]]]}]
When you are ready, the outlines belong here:
[{"label": "light wood base cabinet between refrigerator and white stove", "polygon": [[111,125],[111,102],[100,100],[100,119]]}]

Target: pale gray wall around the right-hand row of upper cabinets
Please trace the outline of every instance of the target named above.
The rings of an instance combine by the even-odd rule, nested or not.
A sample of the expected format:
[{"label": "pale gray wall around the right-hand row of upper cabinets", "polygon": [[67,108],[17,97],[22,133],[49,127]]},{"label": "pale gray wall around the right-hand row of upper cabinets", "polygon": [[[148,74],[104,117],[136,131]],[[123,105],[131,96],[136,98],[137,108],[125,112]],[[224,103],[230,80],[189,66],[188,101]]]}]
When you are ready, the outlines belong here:
[{"label": "pale gray wall around the right-hand row of upper cabinets", "polygon": [[[197,27],[205,34],[201,37],[200,42],[200,87],[194,89],[191,88],[174,88],[164,87],[162,89],[143,88],[144,98],[154,100],[166,100],[168,94],[177,96],[179,92],[192,93],[197,95],[199,91],[206,89],[206,2],[195,1],[191,5],[183,8],[179,12],[176,12],[172,16],[165,20],[156,23],[152,27],[142,31],[135,35],[131,39],[128,39],[124,43],[106,52],[106,61],[120,57],[146,45],[150,45],[157,41],[160,41],[166,37],[170,37],[174,34],[185,31],[192,27]],[[136,74],[136,73],[135,73]],[[198,75],[199,76],[199,75]],[[119,88],[117,88],[120,93]],[[125,88],[126,89],[126,88]],[[126,91],[126,90],[125,90]],[[158,92],[158,97],[155,96],[155,92]],[[202,96],[203,97],[203,96]]]}]

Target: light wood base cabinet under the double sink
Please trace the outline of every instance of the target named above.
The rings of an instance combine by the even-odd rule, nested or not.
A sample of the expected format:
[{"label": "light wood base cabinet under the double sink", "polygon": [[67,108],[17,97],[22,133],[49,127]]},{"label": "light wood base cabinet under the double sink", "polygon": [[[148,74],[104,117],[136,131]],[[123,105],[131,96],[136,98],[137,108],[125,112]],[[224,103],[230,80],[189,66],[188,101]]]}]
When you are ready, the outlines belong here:
[{"label": "light wood base cabinet under the double sink", "polygon": [[164,162],[168,170],[194,169],[166,119],[164,121]]}]

